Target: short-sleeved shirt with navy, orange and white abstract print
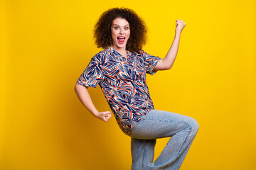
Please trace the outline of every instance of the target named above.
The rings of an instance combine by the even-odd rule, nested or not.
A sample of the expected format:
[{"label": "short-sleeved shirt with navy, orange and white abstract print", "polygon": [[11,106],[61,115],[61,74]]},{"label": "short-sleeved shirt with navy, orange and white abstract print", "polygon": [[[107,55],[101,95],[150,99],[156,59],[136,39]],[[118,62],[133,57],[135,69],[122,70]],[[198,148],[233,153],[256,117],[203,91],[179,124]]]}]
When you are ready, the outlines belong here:
[{"label": "short-sleeved shirt with navy, orange and white abstract print", "polygon": [[121,130],[129,134],[134,121],[139,121],[154,108],[146,85],[146,73],[155,74],[154,67],[161,60],[144,52],[127,51],[127,59],[113,47],[92,57],[77,84],[100,85],[107,103]]}]

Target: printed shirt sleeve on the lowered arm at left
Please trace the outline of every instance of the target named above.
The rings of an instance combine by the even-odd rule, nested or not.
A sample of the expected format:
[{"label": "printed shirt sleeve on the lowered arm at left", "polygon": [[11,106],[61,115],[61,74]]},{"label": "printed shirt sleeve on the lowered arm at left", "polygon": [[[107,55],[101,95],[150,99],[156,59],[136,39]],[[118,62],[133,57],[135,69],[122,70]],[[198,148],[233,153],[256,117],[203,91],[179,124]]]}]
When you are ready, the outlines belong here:
[{"label": "printed shirt sleeve on the lowered arm at left", "polygon": [[90,63],[87,65],[85,71],[80,75],[76,84],[95,88],[97,84],[103,80],[104,74],[102,70],[102,64],[100,62],[100,57],[95,55],[90,60]]}]

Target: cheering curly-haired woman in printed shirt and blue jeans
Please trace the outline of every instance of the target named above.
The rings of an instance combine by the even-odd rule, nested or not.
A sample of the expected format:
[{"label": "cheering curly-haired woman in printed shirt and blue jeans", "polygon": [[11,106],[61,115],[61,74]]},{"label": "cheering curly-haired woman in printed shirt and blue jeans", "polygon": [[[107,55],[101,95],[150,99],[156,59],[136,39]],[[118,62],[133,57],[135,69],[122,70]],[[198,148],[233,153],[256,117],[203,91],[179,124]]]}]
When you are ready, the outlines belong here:
[{"label": "cheering curly-haired woman in printed shirt and blue jeans", "polygon": [[[108,122],[111,112],[97,111],[87,91],[100,85],[119,127],[132,139],[134,170],[179,169],[198,131],[193,118],[155,110],[146,85],[146,73],[171,69],[185,26],[176,20],[174,42],[161,59],[142,50],[146,26],[131,9],[111,8],[95,25],[96,44],[105,49],[92,57],[75,92],[92,115]],[[156,138],[161,137],[171,138],[153,163]]]}]

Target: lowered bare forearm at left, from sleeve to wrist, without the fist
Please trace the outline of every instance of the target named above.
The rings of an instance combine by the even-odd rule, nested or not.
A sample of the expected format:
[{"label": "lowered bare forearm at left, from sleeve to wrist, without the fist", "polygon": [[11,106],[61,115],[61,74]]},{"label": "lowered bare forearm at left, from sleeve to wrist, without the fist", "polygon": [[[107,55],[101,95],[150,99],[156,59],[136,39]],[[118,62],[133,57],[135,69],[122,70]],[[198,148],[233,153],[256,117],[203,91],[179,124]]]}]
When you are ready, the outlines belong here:
[{"label": "lowered bare forearm at left, from sleeve to wrist, without the fist", "polygon": [[92,99],[90,98],[90,94],[87,91],[87,87],[76,84],[75,93],[78,95],[82,105],[85,106],[85,108],[87,108],[87,110],[90,111],[92,115],[98,118],[99,111],[97,111],[94,104],[92,103]]}]

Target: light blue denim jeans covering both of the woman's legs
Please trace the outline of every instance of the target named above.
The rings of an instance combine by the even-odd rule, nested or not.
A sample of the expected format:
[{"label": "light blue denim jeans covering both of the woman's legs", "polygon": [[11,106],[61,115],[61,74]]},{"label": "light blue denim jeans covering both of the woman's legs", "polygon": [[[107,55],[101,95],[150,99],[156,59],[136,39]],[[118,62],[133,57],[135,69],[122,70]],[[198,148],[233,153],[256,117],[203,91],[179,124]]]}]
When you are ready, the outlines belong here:
[{"label": "light blue denim jeans covering both of the woman's legs", "polygon": [[[193,118],[166,111],[151,110],[139,122],[133,122],[132,170],[177,170],[191,147],[199,125]],[[156,139],[171,137],[154,160]]]}]

